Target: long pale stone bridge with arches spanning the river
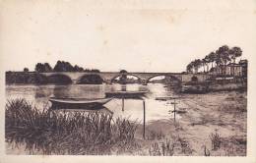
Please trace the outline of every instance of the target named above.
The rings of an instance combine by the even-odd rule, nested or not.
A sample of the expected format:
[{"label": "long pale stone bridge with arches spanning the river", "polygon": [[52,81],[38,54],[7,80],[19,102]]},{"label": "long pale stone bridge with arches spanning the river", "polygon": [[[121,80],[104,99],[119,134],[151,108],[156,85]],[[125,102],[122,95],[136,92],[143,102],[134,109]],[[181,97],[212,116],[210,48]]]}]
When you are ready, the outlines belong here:
[{"label": "long pale stone bridge with arches spanning the river", "polygon": [[55,76],[58,77],[65,77],[69,78],[73,83],[78,83],[83,77],[88,75],[97,75],[99,76],[104,82],[111,83],[116,78],[121,76],[133,76],[137,77],[141,83],[147,84],[151,79],[155,77],[170,77],[173,80],[179,81],[180,83],[191,81],[192,78],[196,78],[198,81],[206,81],[210,78],[210,75],[205,74],[181,74],[181,73],[120,73],[120,72],[50,72],[50,73],[40,73],[46,77]]}]

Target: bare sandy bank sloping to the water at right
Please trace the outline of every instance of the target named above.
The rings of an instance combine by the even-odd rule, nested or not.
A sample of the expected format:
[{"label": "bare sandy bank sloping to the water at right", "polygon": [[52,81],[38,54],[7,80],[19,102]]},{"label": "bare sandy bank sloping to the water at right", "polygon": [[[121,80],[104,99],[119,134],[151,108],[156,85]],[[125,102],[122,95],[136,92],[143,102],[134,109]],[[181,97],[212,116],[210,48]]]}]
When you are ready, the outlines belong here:
[{"label": "bare sandy bank sloping to the water at right", "polygon": [[[201,98],[202,95],[211,96]],[[204,146],[211,156],[246,156],[247,109],[246,92],[212,92],[211,94],[185,94],[187,100],[180,107],[189,108],[175,126],[171,121],[159,121],[148,125],[150,130],[163,133],[164,138],[181,137],[192,153],[188,155],[204,155]],[[164,130],[159,130],[164,127]],[[156,130],[157,129],[157,130]],[[222,139],[221,148],[212,150],[211,134],[218,133]],[[155,141],[162,142],[164,138]],[[178,146],[178,145],[177,145]],[[178,146],[179,147],[179,146]],[[186,155],[177,150],[174,155]]]}]

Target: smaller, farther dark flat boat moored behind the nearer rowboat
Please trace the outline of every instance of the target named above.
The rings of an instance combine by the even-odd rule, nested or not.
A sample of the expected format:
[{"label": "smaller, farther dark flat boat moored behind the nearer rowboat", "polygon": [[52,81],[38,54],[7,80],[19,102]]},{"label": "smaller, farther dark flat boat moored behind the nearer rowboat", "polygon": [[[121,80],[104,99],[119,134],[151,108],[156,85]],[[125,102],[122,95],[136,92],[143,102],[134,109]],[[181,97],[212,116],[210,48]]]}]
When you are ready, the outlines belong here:
[{"label": "smaller, farther dark flat boat moored behind the nearer rowboat", "polygon": [[110,91],[105,92],[106,97],[115,98],[139,98],[144,96],[148,91]]}]

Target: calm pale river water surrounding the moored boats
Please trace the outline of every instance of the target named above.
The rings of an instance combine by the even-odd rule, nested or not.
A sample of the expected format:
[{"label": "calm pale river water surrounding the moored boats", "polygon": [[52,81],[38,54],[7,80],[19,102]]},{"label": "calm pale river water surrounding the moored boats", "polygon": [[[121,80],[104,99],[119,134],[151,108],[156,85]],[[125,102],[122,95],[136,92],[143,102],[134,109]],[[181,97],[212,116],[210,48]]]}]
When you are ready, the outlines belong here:
[{"label": "calm pale river water surrounding the moored boats", "polygon": [[[15,98],[25,98],[32,103],[36,108],[50,107],[48,98],[55,97],[85,97],[85,98],[100,98],[104,97],[106,91],[113,90],[147,90],[146,103],[146,122],[171,119],[173,114],[173,106],[166,101],[158,101],[158,96],[173,96],[175,92],[173,88],[166,87],[161,83],[142,84],[70,84],[70,85],[6,85],[6,100]],[[113,99],[104,105],[105,108],[100,109],[100,112],[112,113],[113,117],[128,118],[131,121],[143,122],[143,101],[139,99],[125,99],[124,109],[122,110],[122,100]],[[84,110],[88,112],[87,110]],[[179,115],[176,118],[180,118]]]}]

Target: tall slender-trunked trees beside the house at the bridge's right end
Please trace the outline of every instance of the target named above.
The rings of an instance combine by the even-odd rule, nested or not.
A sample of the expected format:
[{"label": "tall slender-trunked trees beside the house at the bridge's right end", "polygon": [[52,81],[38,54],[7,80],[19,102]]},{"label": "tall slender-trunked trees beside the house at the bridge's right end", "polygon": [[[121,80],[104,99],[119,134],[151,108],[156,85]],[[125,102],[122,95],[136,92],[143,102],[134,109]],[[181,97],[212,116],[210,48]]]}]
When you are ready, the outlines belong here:
[{"label": "tall slender-trunked trees beside the house at the bridge's right end", "polygon": [[[242,50],[240,47],[228,47],[223,45],[219,47],[216,51],[213,51],[206,55],[203,59],[195,59],[191,61],[187,67],[187,73],[198,73],[200,68],[203,68],[203,72],[213,71],[214,68],[217,70],[217,74],[224,75],[226,74],[226,65],[232,63],[232,74],[234,74],[234,64],[236,63],[236,58],[242,55]],[[211,69],[209,67],[211,65]],[[222,71],[220,71],[220,68]]]}]

